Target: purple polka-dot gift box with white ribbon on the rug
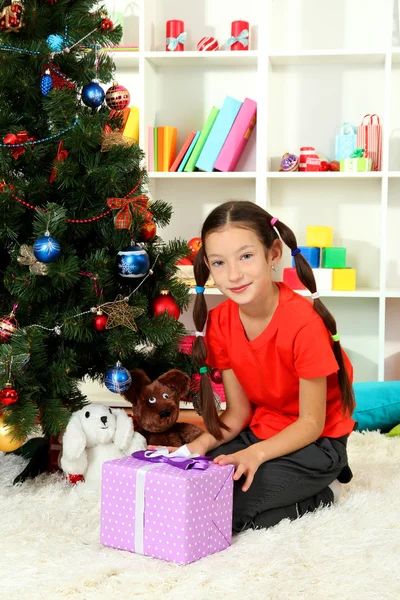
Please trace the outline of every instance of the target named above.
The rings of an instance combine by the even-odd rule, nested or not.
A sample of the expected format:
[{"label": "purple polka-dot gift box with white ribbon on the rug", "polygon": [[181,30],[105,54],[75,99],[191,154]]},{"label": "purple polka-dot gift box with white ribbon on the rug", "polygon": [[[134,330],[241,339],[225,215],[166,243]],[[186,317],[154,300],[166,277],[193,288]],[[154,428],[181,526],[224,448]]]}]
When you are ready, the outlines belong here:
[{"label": "purple polka-dot gift box with white ribbon on the rug", "polygon": [[228,548],[234,468],[202,468],[135,456],[105,462],[100,542],[181,565]]}]

